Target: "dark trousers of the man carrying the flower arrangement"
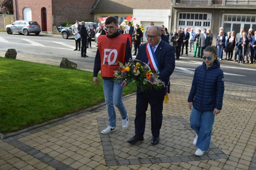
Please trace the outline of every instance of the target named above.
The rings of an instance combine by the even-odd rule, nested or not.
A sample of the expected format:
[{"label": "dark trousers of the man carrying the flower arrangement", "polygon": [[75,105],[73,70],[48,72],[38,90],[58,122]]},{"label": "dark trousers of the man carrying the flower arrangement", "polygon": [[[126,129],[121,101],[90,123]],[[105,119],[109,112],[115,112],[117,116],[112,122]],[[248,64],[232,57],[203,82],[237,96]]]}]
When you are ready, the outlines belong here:
[{"label": "dark trousers of the man carrying the flower arrangement", "polygon": [[138,93],[136,95],[136,117],[135,134],[143,136],[146,125],[146,111],[148,103],[151,108],[151,132],[153,137],[158,137],[162,126],[162,110],[166,89],[152,90],[148,93]]}]

